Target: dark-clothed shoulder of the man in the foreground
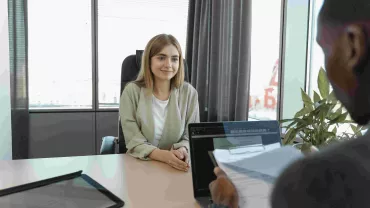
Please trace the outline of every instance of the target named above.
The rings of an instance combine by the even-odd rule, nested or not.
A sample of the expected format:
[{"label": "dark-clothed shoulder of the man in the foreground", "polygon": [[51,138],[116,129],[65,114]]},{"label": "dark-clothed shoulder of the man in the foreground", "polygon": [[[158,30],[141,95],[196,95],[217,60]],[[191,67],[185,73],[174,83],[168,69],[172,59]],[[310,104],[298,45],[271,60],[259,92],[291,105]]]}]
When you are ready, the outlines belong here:
[{"label": "dark-clothed shoulder of the man in the foreground", "polygon": [[[367,166],[367,167],[366,167]],[[370,190],[370,138],[343,142],[297,160],[276,180],[271,200],[275,207],[317,207],[332,204],[347,192]],[[366,184],[366,185],[365,185]],[[367,191],[368,191],[367,190]]]}]

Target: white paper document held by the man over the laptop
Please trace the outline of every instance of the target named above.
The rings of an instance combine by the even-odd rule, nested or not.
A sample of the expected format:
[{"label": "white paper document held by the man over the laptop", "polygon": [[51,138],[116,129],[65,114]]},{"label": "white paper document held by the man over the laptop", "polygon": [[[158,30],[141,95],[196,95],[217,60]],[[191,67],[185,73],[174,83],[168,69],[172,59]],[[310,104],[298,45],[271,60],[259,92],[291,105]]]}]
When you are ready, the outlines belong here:
[{"label": "white paper document held by the man over the laptop", "polygon": [[294,147],[267,145],[264,151],[233,154],[215,150],[214,157],[239,193],[240,207],[270,208],[270,194],[275,179],[292,162],[303,157]]}]

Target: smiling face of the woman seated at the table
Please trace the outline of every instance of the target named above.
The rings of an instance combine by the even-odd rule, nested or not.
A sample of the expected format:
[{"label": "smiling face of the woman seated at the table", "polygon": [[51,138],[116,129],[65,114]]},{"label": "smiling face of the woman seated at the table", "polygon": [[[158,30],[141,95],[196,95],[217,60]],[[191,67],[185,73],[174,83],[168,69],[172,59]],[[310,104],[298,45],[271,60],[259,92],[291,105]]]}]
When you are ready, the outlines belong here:
[{"label": "smiling face of the woman seated at the table", "polygon": [[151,58],[150,69],[155,81],[169,81],[179,70],[179,52],[174,45],[165,46]]}]

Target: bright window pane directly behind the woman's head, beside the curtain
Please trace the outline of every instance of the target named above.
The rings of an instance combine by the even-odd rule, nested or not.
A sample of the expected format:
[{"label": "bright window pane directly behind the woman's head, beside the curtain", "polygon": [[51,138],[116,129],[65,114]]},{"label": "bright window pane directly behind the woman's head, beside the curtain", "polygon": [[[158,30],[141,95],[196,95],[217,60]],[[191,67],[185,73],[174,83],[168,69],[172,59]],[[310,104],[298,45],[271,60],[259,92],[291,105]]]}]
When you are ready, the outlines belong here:
[{"label": "bright window pane directly behind the woman's head, beside the curtain", "polygon": [[119,105],[121,64],[144,50],[155,35],[167,33],[180,42],[185,55],[188,0],[99,0],[99,108]]}]

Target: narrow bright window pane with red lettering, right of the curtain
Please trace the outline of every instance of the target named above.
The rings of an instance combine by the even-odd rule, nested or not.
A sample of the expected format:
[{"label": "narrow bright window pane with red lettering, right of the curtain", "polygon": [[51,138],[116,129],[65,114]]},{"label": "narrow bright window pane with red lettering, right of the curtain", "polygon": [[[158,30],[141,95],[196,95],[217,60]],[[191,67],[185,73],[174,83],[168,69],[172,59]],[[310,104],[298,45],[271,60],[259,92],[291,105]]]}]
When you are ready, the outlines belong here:
[{"label": "narrow bright window pane with red lettering, right of the curtain", "polygon": [[276,119],[280,21],[281,1],[252,1],[250,120]]}]

